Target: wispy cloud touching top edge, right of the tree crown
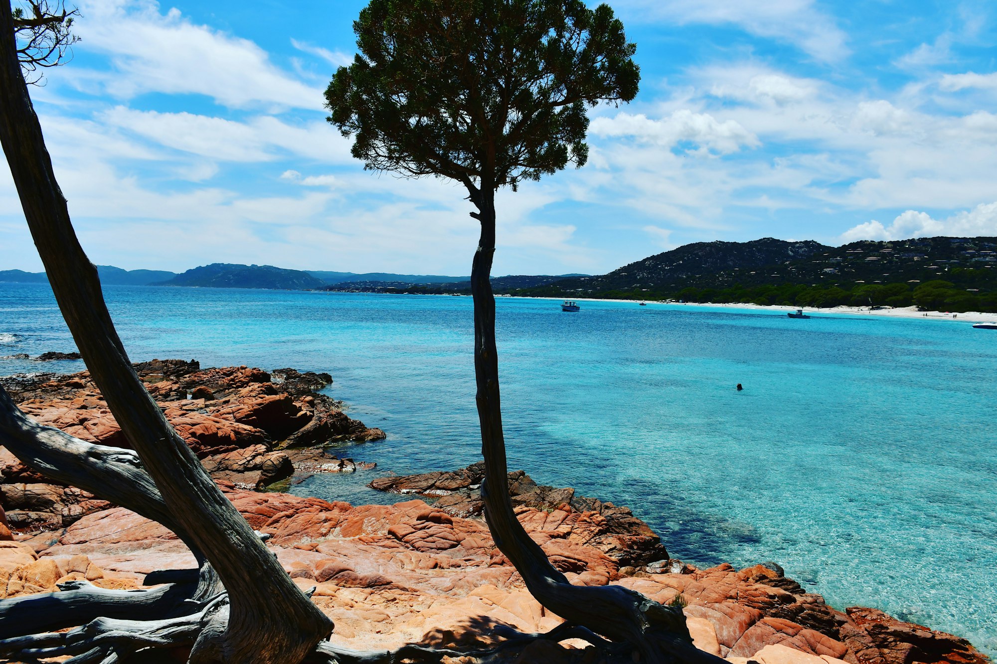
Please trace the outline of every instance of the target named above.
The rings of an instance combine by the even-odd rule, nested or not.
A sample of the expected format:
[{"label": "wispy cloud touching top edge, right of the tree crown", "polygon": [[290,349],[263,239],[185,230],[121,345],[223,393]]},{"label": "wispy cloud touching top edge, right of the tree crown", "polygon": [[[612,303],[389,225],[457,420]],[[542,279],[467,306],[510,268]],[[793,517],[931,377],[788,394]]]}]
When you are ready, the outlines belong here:
[{"label": "wispy cloud touching top edge, right of the tree crown", "polygon": [[826,62],[848,54],[845,34],[813,0],[617,0],[613,6],[638,21],[733,24],[759,37],[794,44]]}]

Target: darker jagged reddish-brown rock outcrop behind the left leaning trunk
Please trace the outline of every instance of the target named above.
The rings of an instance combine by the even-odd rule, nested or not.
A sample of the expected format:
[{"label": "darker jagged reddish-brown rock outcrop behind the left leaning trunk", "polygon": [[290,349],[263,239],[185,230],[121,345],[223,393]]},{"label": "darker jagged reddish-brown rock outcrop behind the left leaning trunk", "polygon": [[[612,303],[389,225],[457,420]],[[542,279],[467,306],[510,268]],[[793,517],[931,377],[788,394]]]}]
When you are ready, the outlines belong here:
[{"label": "darker jagged reddish-brown rock outcrop behind the left leaning trunk", "polygon": [[[298,474],[351,472],[371,464],[340,460],[324,446],[385,438],[349,418],[342,403],[318,391],[329,374],[245,366],[201,370],[195,360],[153,360],[135,365],[180,438],[212,478],[261,490]],[[131,444],[86,371],[0,378],[18,407],[38,422],[88,443]],[[0,447],[0,496],[11,527],[19,531],[65,527],[108,503],[62,487],[23,466]]]}]

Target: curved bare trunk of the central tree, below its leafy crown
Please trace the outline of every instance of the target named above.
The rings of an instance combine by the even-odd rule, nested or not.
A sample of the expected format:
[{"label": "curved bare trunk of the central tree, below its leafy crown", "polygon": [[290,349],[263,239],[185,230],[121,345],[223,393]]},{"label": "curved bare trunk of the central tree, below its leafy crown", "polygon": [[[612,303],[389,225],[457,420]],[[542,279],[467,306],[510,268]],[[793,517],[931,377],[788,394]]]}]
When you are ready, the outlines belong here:
[{"label": "curved bare trunk of the central tree, below its leafy crown", "polygon": [[641,662],[723,662],[692,644],[679,606],[663,606],[618,585],[576,586],[550,564],[515,517],[508,496],[505,438],[498,390],[496,301],[492,293],[492,261],[496,249],[495,188],[483,181],[471,189],[482,224],[481,240],[471,270],[475,304],[475,380],[482,428],[485,517],[496,545],[522,575],[526,588],[543,606],[569,623],[581,625],[612,641],[632,644]]}]

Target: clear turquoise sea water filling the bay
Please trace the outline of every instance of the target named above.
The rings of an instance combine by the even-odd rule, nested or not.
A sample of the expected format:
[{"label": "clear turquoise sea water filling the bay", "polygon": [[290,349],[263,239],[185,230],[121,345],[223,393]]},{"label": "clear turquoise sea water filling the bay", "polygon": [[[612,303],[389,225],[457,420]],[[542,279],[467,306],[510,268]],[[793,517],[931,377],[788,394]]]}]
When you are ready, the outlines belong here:
[{"label": "clear turquoise sea water filling the bay", "polygon": [[[471,299],[108,287],[133,360],[328,371],[387,441],[299,494],[478,461]],[[997,333],[947,320],[499,298],[510,468],[626,504],[676,557],[765,560],[837,607],[997,652]],[[0,283],[0,355],[73,350],[47,285]],[[0,360],[0,374],[80,362]],[[734,390],[737,383],[744,392]]]}]

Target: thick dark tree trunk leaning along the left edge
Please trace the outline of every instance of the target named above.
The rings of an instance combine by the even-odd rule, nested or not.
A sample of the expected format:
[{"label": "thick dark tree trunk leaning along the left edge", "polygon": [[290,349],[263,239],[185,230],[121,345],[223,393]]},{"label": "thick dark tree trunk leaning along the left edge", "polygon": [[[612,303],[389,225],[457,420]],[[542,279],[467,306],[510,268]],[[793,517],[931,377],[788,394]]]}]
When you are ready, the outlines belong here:
[{"label": "thick dark tree trunk leaning along the left edge", "polygon": [[56,181],[17,60],[9,0],[0,0],[0,142],[59,308],[94,382],[176,521],[228,591],[227,628],[203,644],[204,652],[226,663],[296,664],[331,632],[332,622],[221,494],[133,370]]}]

